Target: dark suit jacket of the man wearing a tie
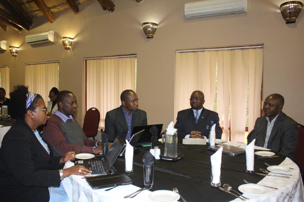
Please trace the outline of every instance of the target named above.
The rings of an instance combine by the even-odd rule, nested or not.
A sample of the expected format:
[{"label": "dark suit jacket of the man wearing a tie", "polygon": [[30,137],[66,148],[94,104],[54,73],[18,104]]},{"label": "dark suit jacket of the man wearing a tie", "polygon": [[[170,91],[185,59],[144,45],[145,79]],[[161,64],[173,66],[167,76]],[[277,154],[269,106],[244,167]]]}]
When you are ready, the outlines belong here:
[{"label": "dark suit jacket of the man wearing a tie", "polygon": [[209,138],[209,129],[207,125],[210,125],[210,121],[214,121],[216,124],[215,133],[216,139],[222,138],[223,130],[219,125],[219,114],[214,111],[203,108],[197,123],[195,122],[195,117],[193,109],[185,109],[177,113],[176,124],[174,128],[178,131],[178,137],[184,138],[185,135],[191,134],[191,131],[200,131],[202,136]]}]

